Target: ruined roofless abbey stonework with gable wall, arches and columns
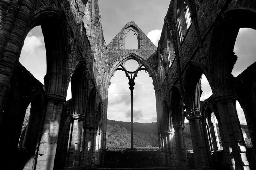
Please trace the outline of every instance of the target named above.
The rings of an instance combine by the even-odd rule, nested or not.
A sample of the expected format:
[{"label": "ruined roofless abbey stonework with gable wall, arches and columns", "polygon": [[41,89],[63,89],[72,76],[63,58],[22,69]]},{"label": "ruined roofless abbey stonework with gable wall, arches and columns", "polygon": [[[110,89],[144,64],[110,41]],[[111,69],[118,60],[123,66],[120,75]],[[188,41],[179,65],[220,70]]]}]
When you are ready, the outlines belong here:
[{"label": "ruined roofless abbey stonework with gable wall, arches and columns", "polygon": [[[195,169],[256,169],[256,63],[237,77],[231,73],[239,29],[256,29],[254,0],[171,0],[158,47],[133,21],[106,45],[97,0],[6,0],[0,13],[0,169],[189,169],[185,117]],[[19,63],[36,26],[45,42],[44,85]],[[125,49],[129,31],[138,49]],[[159,149],[106,149],[108,88],[128,59],[153,79]],[[213,92],[203,102],[202,74]],[[252,148],[246,148],[236,100]]]}]

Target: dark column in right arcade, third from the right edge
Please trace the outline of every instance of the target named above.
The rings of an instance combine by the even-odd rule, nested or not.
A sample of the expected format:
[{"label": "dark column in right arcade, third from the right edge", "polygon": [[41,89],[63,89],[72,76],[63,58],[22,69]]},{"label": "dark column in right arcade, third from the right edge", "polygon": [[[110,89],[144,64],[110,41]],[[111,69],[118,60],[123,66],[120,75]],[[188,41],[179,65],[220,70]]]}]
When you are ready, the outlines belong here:
[{"label": "dark column in right arcade, third from the right edge", "polygon": [[186,143],[184,140],[184,128],[183,125],[175,125],[173,126],[175,131],[175,139],[176,139],[176,150],[177,150],[177,159],[179,169],[189,169],[188,166],[188,158],[187,158],[187,150]]}]

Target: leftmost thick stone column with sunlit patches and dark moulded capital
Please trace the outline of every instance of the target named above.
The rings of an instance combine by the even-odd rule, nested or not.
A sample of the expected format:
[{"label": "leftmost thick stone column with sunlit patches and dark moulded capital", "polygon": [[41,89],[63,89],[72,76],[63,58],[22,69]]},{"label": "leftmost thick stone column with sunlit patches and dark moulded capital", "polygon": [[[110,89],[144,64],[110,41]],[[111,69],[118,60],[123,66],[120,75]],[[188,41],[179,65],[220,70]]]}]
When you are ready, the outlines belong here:
[{"label": "leftmost thick stone column with sunlit patches and dark moulded capital", "polygon": [[48,103],[45,112],[42,137],[39,142],[38,155],[36,155],[36,170],[53,169],[62,106],[66,98],[56,94],[47,94],[44,100],[48,101]]}]

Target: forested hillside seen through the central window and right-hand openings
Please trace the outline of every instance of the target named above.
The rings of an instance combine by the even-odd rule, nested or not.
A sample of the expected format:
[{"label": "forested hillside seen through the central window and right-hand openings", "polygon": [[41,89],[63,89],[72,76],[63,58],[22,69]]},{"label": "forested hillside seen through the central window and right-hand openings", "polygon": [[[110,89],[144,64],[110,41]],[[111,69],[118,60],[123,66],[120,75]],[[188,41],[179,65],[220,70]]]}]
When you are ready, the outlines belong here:
[{"label": "forested hillside seen through the central window and right-hand openings", "polygon": [[[218,136],[219,135],[218,124],[216,124]],[[243,133],[247,135],[246,145],[250,147],[250,135],[247,125],[241,124]],[[130,148],[131,136],[130,136],[131,123],[121,122],[114,120],[107,120],[107,148]],[[152,147],[158,147],[158,132],[157,123],[133,123],[134,133],[134,147],[146,147],[148,144]],[[187,150],[193,150],[189,123],[185,123],[184,128],[185,142]]]}]

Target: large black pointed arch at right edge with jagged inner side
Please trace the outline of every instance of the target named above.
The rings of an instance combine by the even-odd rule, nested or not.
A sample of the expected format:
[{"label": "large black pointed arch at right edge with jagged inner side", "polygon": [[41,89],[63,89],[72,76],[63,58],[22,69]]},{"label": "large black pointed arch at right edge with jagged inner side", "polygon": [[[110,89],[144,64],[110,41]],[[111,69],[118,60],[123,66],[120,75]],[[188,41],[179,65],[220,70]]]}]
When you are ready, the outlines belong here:
[{"label": "large black pointed arch at right edge with jagged inner side", "polygon": [[219,15],[214,24],[209,50],[209,75],[213,95],[232,93],[234,79],[231,72],[237,60],[233,49],[240,28],[256,30],[256,12],[232,9]]}]

